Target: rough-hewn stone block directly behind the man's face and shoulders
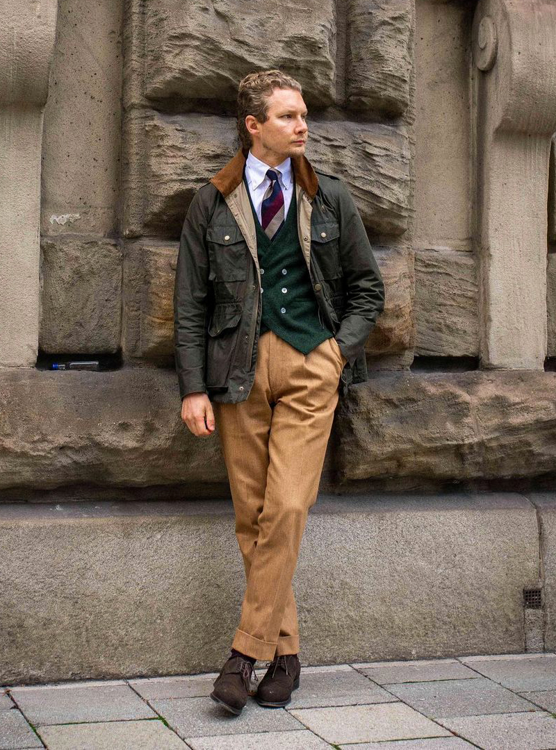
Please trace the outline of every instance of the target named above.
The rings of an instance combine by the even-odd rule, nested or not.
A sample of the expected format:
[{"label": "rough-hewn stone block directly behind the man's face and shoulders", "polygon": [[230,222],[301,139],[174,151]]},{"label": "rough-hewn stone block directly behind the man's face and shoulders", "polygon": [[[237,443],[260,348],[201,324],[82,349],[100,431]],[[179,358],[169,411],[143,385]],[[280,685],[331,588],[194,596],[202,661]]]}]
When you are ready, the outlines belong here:
[{"label": "rough-hewn stone block directly behind the man's face and shoulders", "polygon": [[[140,144],[134,158],[142,164],[130,170],[127,185],[128,199],[134,202],[129,207],[137,224],[134,233],[178,239],[194,193],[236,152],[235,120],[148,112],[137,115],[134,130]],[[368,229],[394,235],[407,229],[410,151],[403,129],[310,122],[307,157],[344,179]]]}]

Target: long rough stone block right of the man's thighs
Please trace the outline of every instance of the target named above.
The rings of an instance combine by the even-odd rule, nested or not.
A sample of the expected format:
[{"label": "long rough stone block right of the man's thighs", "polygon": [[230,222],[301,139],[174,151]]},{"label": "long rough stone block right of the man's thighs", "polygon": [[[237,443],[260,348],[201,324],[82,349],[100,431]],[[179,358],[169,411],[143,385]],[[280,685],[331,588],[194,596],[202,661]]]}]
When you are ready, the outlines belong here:
[{"label": "long rough stone block right of the man's thighs", "polygon": [[345,479],[556,475],[556,373],[372,374],[338,408]]}]

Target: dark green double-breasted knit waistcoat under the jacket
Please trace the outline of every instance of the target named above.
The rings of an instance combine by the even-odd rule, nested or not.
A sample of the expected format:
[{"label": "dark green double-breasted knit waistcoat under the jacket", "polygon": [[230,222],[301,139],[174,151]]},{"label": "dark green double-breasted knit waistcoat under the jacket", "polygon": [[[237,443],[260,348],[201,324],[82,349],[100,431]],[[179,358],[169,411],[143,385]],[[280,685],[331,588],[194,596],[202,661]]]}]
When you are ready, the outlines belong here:
[{"label": "dark green double-breasted knit waistcoat under the jacket", "polygon": [[271,330],[299,352],[308,354],[334,334],[320,322],[317,299],[299,242],[295,182],[286,220],[270,240],[260,226],[245,172],[243,179],[257,229],[257,255],[263,288],[260,335]]}]

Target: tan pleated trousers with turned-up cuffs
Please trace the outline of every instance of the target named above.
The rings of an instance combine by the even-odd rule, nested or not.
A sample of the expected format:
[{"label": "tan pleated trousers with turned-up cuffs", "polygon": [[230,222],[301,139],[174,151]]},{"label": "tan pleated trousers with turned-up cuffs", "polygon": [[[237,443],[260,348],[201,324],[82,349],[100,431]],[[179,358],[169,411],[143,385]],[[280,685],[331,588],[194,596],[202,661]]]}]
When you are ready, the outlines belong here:
[{"label": "tan pleated trousers with turned-up cuffs", "polygon": [[212,404],[247,579],[232,647],[260,660],[299,652],[292,579],[344,362],[335,338],[303,354],[267,331],[248,398]]}]

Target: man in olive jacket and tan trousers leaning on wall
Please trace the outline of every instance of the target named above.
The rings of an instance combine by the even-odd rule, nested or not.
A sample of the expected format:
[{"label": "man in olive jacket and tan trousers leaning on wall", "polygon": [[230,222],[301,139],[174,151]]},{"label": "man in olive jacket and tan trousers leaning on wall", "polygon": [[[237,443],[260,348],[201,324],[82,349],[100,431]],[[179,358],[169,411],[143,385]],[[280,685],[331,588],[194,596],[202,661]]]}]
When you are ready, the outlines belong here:
[{"label": "man in olive jacket and tan trousers leaning on wall", "polygon": [[[191,202],[174,292],[182,419],[215,422],[247,587],[211,694],[285,706],[299,685],[292,579],[340,391],[366,380],[384,286],[344,183],[305,157],[302,89],[281,71],[239,83],[241,147]],[[255,679],[257,675],[255,674]]]}]

